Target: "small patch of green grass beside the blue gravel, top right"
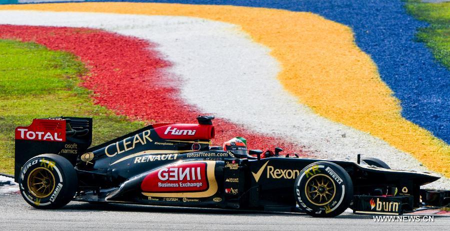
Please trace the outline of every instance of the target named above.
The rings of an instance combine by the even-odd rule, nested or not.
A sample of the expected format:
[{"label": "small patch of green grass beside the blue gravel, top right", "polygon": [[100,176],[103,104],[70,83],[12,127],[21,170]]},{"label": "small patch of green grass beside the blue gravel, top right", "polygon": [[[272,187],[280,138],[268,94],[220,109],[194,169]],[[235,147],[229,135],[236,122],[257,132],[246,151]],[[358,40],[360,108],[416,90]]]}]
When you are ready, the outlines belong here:
[{"label": "small patch of green grass beside the blue gravel, top right", "polygon": [[414,17],[430,24],[429,27],[419,29],[417,38],[425,42],[434,57],[450,69],[450,2],[408,0],[405,6]]}]

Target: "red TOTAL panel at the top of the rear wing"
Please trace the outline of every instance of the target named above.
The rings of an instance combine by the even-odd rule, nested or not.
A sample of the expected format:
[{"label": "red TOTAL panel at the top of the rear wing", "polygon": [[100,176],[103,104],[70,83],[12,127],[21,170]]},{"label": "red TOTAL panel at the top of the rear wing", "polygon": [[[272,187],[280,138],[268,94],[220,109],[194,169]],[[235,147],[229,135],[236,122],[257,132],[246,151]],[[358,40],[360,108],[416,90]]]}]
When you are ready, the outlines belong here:
[{"label": "red TOTAL panel at the top of the rear wing", "polygon": [[30,126],[15,129],[15,139],[65,142],[65,120],[33,119]]}]

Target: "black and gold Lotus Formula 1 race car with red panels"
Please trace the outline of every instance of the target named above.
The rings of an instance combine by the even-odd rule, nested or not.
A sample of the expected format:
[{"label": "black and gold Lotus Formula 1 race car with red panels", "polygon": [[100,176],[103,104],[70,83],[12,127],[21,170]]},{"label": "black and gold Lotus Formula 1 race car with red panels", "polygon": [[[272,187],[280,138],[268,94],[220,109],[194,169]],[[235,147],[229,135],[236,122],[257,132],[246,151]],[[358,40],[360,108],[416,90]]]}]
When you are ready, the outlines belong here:
[{"label": "black and gold Lotus Formula 1 race car with red panels", "polygon": [[443,206],[449,191],[420,190],[430,173],[391,170],[375,158],[321,159],[210,146],[213,116],[153,124],[89,147],[92,119],[34,119],[15,129],[15,181],[38,209],[70,201],[306,213],[399,215]]}]

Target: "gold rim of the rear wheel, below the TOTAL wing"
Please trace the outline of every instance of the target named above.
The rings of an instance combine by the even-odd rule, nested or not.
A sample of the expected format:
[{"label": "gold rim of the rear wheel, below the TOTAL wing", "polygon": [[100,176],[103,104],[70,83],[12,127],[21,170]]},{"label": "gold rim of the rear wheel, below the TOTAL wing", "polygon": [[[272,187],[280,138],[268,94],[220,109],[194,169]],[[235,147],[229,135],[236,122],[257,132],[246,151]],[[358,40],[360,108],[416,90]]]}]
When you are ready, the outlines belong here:
[{"label": "gold rim of the rear wheel, below the TOTAL wing", "polygon": [[53,173],[46,168],[36,168],[28,176],[28,190],[37,198],[46,198],[54,190]]}]

